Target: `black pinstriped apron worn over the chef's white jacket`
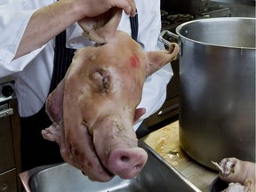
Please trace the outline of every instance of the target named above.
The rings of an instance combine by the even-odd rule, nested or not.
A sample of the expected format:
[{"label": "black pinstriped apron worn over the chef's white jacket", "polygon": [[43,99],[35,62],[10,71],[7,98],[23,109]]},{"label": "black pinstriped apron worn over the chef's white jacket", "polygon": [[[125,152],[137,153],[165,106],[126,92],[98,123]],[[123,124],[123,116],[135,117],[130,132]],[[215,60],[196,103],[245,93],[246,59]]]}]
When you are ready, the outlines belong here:
[{"label": "black pinstriped apron worn over the chef's white jacket", "polygon": [[[130,18],[132,38],[137,40],[138,36],[138,14]],[[65,76],[73,58],[74,49],[66,48],[66,30],[56,36],[54,50],[52,82],[49,93],[51,93],[62,78]],[[56,142],[44,140],[41,131],[52,124],[49,116],[45,113],[45,104],[40,111],[33,116],[21,117],[20,135],[20,158],[21,172],[45,164],[57,164],[63,162],[60,156],[60,147]]]}]

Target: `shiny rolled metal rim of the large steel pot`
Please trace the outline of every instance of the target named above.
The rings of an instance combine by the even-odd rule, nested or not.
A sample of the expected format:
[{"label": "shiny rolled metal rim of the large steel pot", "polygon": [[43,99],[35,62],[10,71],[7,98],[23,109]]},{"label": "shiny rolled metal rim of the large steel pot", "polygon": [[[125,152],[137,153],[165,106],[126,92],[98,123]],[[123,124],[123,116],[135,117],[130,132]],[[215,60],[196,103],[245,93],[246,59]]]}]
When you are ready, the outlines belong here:
[{"label": "shiny rolled metal rim of the large steel pot", "polygon": [[[222,45],[222,44],[211,44],[211,43],[206,43],[206,42],[202,42],[202,41],[197,41],[191,38],[188,38],[187,36],[181,35],[180,34],[180,30],[182,28],[185,28],[188,25],[194,24],[194,23],[199,23],[199,22],[209,22],[209,21],[216,21],[216,20],[230,20],[230,21],[235,21],[235,20],[255,20],[256,22],[256,18],[252,18],[252,17],[219,17],[219,18],[207,18],[207,19],[198,19],[198,20],[190,20],[184,23],[181,23],[176,29],[176,33],[179,36],[179,38],[184,38],[190,42],[194,42],[196,44],[204,44],[204,45],[209,45],[209,46],[217,46],[217,47],[222,47],[222,48],[235,48],[235,49],[247,49],[247,50],[256,50],[256,45],[254,47],[243,47],[243,46],[231,46],[231,45]],[[254,28],[255,31],[255,28]],[[255,33],[254,33],[255,34]]]}]

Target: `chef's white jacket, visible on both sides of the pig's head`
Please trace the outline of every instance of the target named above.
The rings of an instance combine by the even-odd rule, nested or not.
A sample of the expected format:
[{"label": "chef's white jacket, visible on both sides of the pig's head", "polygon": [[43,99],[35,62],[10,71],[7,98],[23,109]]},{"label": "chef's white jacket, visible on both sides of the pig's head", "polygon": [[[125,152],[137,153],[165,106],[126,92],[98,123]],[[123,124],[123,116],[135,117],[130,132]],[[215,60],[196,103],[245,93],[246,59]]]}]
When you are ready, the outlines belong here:
[{"label": "chef's white jacket, visible on both sides of the pig's head", "polygon": [[[36,9],[56,0],[0,0],[0,77],[13,75],[20,116],[32,116],[44,105],[51,84],[54,39],[43,47],[13,60],[28,20]],[[161,28],[160,0],[135,0],[139,16],[138,42],[145,51],[164,49],[158,41]],[[118,27],[131,35],[129,16],[123,13]],[[33,39],[31,39],[33,41]],[[82,36],[75,23],[67,29],[67,47],[79,49],[92,45]],[[143,119],[156,112],[164,103],[166,85],[172,77],[171,65],[165,65],[148,76],[143,87],[138,108],[146,108],[145,115],[134,124],[137,130]]]}]

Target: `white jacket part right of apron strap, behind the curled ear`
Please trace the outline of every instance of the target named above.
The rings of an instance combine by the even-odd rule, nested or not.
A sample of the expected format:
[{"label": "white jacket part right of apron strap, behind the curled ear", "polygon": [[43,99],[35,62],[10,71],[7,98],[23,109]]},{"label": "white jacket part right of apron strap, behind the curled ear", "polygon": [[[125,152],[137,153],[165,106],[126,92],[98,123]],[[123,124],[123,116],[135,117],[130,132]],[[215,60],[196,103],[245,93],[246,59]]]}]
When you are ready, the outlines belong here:
[{"label": "white jacket part right of apron strap, behind the curled ear", "polygon": [[[164,44],[158,40],[161,30],[160,1],[140,1],[141,4],[144,2],[148,6],[144,4],[139,7],[137,5],[140,23],[138,42],[145,51],[163,50]],[[138,106],[138,108],[146,108],[146,114],[140,117],[138,123],[134,124],[134,130],[138,129],[143,119],[154,114],[162,107],[166,99],[167,84],[170,82],[172,75],[172,67],[170,64],[167,64],[147,77],[143,86],[142,100]]]}]

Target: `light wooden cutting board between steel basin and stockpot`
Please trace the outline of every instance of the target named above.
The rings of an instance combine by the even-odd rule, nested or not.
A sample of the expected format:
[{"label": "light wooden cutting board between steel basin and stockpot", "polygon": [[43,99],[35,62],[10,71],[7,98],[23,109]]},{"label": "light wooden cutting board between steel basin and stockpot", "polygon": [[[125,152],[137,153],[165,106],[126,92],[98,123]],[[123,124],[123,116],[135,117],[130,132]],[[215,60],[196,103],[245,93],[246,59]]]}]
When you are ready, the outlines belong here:
[{"label": "light wooden cutting board between steel basin and stockpot", "polygon": [[180,147],[179,121],[168,124],[151,132],[144,140],[149,147],[190,180],[203,192],[210,191],[212,180],[218,177],[217,172],[205,168],[191,159]]}]

